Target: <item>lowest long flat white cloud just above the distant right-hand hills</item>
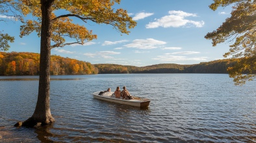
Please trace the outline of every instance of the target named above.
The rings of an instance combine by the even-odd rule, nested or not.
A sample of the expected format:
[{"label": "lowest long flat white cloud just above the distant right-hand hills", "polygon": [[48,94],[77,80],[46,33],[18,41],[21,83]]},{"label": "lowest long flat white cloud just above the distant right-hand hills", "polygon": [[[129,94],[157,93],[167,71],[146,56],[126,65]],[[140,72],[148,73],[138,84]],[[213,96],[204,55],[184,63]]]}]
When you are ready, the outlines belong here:
[{"label": "lowest long flat white cloud just above the distant right-hand hills", "polygon": [[186,56],[164,55],[164,56],[157,56],[157,58],[153,58],[153,60],[159,60],[159,61],[206,61],[207,57],[188,58]]}]

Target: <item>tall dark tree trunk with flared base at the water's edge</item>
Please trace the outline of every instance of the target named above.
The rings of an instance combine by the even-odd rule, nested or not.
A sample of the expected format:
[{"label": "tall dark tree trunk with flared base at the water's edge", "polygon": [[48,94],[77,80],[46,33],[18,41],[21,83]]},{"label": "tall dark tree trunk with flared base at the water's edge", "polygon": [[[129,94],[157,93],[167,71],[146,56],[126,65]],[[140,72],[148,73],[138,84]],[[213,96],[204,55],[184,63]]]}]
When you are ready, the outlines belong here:
[{"label": "tall dark tree trunk with flared base at the water's edge", "polygon": [[23,123],[19,122],[16,126],[44,126],[55,121],[50,110],[51,4],[53,1],[41,0],[40,77],[36,109],[31,118]]}]

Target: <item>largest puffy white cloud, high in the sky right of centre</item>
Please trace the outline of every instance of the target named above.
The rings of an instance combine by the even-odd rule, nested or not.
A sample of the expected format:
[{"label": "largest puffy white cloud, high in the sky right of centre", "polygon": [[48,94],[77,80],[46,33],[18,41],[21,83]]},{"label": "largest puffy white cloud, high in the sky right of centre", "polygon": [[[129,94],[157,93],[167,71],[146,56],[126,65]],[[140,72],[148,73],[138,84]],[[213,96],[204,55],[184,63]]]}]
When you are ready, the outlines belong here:
[{"label": "largest puffy white cloud, high in the sky right of centre", "polygon": [[196,17],[196,14],[190,14],[183,11],[169,11],[169,16],[160,17],[160,19],[155,19],[146,25],[146,28],[157,28],[157,27],[184,27],[187,25],[195,25],[196,27],[203,27],[205,25],[204,21],[192,21],[185,19],[185,17]]}]

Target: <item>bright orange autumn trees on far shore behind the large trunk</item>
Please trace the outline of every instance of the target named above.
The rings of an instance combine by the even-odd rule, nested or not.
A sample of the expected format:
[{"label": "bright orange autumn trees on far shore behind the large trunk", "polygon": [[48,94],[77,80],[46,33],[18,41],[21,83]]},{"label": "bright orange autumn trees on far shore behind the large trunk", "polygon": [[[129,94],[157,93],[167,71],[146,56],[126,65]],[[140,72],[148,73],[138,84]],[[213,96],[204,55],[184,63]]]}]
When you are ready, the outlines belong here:
[{"label": "bright orange autumn trees on far shore behind the large trunk", "polygon": [[[0,52],[0,76],[38,75],[40,54],[31,52]],[[51,56],[51,75],[97,74],[89,62]]]}]

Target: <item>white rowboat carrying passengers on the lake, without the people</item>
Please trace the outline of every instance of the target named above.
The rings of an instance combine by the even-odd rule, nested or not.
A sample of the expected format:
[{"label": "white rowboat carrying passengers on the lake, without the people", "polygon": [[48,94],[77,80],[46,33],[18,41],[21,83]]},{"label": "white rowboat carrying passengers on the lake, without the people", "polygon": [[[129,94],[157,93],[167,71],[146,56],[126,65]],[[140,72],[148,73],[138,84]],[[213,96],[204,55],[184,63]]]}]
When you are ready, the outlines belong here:
[{"label": "white rowboat carrying passengers on the lake, without the people", "polygon": [[100,92],[101,91],[97,91],[95,93],[92,93],[92,95],[94,95],[94,98],[97,98],[100,100],[115,102],[118,104],[133,105],[136,107],[147,107],[149,106],[149,102],[150,102],[150,100],[147,98],[140,98],[140,97],[133,96],[132,100],[125,100],[122,98],[115,98],[114,96],[112,96],[112,92],[105,92],[99,95]]}]

